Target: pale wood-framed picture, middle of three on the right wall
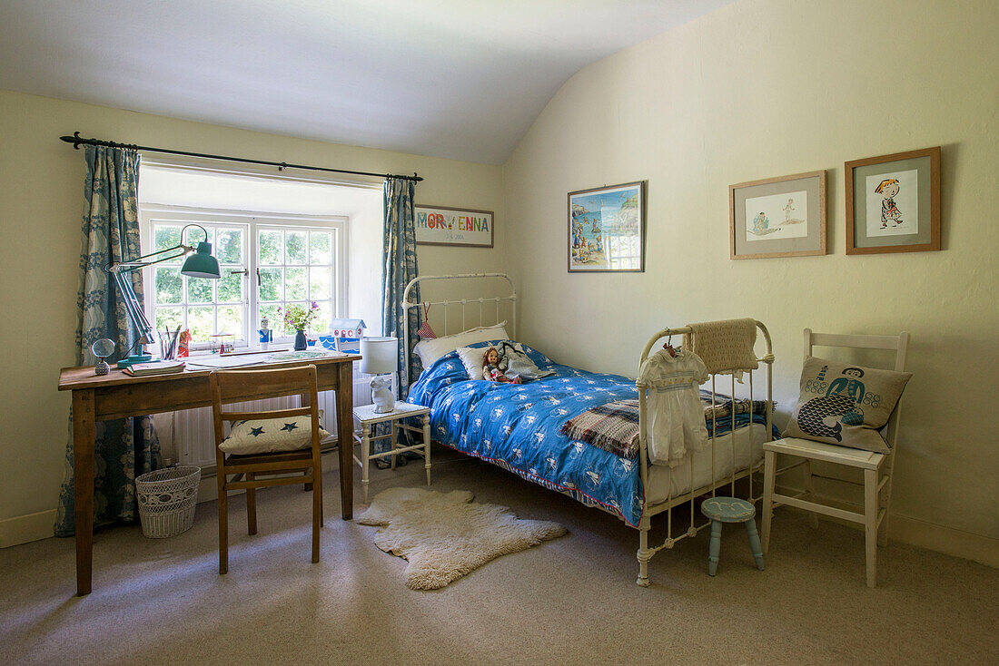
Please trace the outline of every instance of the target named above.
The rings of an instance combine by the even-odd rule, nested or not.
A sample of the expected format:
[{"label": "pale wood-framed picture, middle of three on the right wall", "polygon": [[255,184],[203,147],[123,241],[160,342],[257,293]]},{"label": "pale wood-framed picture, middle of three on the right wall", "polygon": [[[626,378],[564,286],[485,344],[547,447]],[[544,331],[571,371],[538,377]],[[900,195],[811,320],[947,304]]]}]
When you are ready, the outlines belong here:
[{"label": "pale wood-framed picture, middle of three on the right wall", "polygon": [[732,259],[825,254],[825,171],[728,188]]}]

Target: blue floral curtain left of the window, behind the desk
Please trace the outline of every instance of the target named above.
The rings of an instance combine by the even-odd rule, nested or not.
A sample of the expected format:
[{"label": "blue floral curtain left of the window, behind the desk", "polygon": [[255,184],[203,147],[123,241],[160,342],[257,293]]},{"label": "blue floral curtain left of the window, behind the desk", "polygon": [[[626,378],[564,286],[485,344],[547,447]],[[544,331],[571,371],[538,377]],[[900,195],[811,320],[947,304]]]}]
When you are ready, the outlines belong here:
[{"label": "blue floral curtain left of the window, behind the desk", "polygon": [[[101,337],[127,355],[136,340],[121,294],[104,267],[135,259],[139,250],[139,154],[103,146],[87,146],[84,185],[80,289],[77,293],[76,364],[97,362],[90,345]],[[142,272],[131,275],[142,302]],[[138,516],[135,477],[160,465],[160,442],[151,416],[97,422],[94,479],[94,524],[133,521]],[[56,536],[74,533],[73,436],[66,445],[66,472],[59,495]]]}]

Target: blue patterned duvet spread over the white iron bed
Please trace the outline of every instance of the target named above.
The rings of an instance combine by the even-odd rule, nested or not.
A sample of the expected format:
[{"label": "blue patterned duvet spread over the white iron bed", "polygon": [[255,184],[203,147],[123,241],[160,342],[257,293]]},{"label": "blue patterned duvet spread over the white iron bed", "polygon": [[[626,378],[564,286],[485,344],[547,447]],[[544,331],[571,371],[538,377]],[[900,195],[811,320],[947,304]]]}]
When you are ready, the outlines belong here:
[{"label": "blue patterned duvet spread over the white iron bed", "polygon": [[[452,351],[423,372],[408,399],[431,407],[431,432],[441,443],[583,503],[598,504],[636,527],[643,497],[638,458],[622,458],[558,431],[566,420],[597,404],[637,397],[634,380],[559,365],[526,345],[524,349],[541,369],[554,374],[520,385],[473,380]],[[740,416],[736,427],[748,420],[748,414]],[[719,419],[718,434],[731,429],[729,417],[724,420],[722,427]]]}]

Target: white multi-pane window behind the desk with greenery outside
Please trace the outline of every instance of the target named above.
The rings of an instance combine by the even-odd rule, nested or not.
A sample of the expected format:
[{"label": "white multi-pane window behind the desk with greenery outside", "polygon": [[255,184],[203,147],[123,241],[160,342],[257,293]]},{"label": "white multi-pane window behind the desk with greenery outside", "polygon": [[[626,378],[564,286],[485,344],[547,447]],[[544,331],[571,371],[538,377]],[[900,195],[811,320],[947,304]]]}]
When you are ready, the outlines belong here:
[{"label": "white multi-pane window behind the desk with greenery outside", "polygon": [[[181,262],[160,264],[146,277],[146,309],[157,331],[190,330],[192,349],[208,349],[228,334],[237,348],[259,345],[267,317],[274,341],[291,341],[279,309],[315,301],[319,317],[311,333],[326,333],[345,310],[346,221],[312,216],[250,217],[226,211],[144,208],[143,241],[154,250],[176,246],[191,223],[208,232],[222,279],[189,279]],[[202,239],[189,229],[184,243]]]}]

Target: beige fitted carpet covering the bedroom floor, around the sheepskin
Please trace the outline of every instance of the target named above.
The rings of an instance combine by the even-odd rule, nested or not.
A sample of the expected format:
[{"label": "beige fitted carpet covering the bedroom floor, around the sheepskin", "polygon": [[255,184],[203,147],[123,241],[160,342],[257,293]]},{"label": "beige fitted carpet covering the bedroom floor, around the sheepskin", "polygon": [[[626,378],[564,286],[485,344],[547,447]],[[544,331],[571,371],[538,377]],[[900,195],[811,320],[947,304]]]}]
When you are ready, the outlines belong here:
[{"label": "beige fitted carpet covering the bedroom floor, around the sheepskin", "polygon": [[[372,491],[421,486],[422,465],[373,470]],[[97,535],[94,592],[73,596],[73,541],[0,550],[4,664],[987,664],[999,663],[999,571],[891,543],[880,585],[864,586],[859,531],[778,510],[766,570],[745,530],[707,534],[650,564],[634,584],[637,535],[610,515],[464,456],[435,450],[435,490],[553,520],[568,534],[418,592],[371,527],[339,518],[327,474],[322,561],[309,562],[309,494],[258,495],[247,536],[231,504],[230,568],[218,575],[216,514],[189,532]],[[359,484],[360,485],[360,484]],[[359,506],[360,514],[363,506]]]}]

